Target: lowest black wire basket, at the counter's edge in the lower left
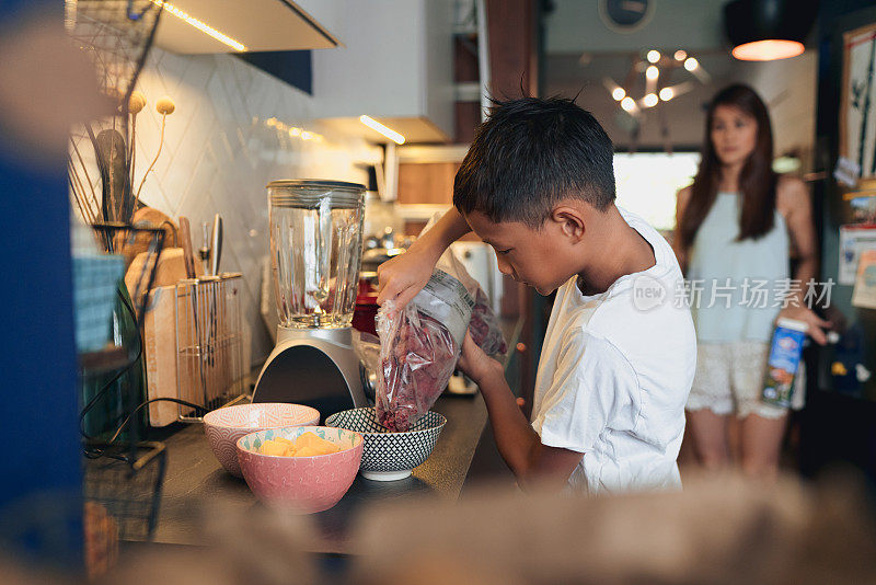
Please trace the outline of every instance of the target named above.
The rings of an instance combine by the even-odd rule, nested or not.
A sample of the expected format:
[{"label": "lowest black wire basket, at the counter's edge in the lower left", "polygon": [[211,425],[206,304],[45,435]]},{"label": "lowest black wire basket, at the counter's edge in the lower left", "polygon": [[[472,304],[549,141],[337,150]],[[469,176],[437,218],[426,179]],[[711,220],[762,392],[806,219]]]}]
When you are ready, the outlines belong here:
[{"label": "lowest black wire basket, at the counter's edge in the lower left", "polygon": [[158,524],[164,482],[164,444],[91,443],[85,450],[84,497],[103,506],[119,540],[150,540]]}]

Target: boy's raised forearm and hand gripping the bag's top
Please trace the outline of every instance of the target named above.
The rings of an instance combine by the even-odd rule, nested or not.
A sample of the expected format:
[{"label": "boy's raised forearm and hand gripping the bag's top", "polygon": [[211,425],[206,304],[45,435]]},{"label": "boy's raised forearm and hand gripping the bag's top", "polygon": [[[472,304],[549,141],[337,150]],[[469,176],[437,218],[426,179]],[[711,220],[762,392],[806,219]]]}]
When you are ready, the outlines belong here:
[{"label": "boy's raised forearm and hand gripping the bag's top", "polygon": [[407,305],[426,286],[436,262],[447,246],[470,231],[462,214],[451,207],[407,252],[378,266],[378,305],[391,299],[399,307]]}]

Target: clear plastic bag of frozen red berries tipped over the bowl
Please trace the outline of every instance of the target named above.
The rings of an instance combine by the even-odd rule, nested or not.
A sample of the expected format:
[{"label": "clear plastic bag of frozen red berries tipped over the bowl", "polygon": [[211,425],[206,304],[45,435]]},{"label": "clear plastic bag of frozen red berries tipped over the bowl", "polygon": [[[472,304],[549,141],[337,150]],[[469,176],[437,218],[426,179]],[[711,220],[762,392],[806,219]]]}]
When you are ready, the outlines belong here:
[{"label": "clear plastic bag of frozen red berries tipped over the bowl", "polygon": [[473,307],[465,287],[439,269],[406,306],[383,303],[374,397],[383,426],[407,431],[435,404],[457,367]]}]

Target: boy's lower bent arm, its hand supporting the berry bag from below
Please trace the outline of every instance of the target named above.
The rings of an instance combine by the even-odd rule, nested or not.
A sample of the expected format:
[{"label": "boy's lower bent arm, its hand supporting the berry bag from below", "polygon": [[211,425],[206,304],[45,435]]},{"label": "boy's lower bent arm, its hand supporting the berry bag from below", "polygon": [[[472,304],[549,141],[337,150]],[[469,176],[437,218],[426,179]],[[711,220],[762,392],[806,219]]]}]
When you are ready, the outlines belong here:
[{"label": "boy's lower bent arm, its hand supporting the berry bag from below", "polygon": [[584,455],[542,445],[505,381],[502,364],[484,354],[468,333],[459,367],[480,386],[496,446],[520,486],[563,489]]}]

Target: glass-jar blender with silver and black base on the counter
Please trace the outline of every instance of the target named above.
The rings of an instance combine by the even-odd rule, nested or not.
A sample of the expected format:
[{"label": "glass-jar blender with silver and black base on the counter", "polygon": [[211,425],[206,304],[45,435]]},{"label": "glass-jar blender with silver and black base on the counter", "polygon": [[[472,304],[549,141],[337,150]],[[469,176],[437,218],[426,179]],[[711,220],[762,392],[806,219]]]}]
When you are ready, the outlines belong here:
[{"label": "glass-jar blender with silver and black base on the counter", "polygon": [[267,190],[279,325],[253,402],[307,404],[323,417],[367,406],[351,329],[365,186],[286,180]]}]

